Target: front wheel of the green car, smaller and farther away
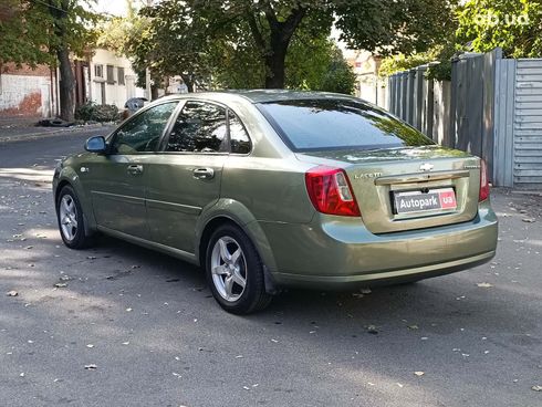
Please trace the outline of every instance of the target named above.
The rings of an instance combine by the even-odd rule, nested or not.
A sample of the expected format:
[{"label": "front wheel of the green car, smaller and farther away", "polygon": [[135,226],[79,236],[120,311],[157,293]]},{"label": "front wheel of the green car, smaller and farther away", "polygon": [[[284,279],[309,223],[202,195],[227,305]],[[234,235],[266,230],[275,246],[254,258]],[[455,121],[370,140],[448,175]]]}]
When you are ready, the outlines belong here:
[{"label": "front wheel of the green car, smaller and farther away", "polygon": [[85,249],[94,243],[94,237],[86,234],[83,208],[73,188],[63,187],[56,198],[56,220],[62,241],[70,249]]}]

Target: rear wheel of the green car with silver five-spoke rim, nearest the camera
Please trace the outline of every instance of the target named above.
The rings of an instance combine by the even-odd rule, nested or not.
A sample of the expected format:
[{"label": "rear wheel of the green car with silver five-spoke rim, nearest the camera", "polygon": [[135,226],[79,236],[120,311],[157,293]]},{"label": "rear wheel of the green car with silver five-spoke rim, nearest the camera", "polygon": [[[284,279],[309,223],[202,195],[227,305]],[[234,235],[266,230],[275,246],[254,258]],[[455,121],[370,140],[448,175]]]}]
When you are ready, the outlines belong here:
[{"label": "rear wheel of the green car with silver five-spoke rim, nearest the camera", "polygon": [[260,255],[241,229],[227,223],[215,230],[206,251],[206,276],[223,310],[243,315],[268,306],[272,296],[263,273]]}]

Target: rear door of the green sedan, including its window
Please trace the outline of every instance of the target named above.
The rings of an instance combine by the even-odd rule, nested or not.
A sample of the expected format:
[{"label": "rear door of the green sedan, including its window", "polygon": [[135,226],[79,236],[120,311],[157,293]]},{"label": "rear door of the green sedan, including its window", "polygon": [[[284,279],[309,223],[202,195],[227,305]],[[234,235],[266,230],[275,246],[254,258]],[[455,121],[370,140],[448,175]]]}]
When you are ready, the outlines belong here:
[{"label": "rear door of the green sedan, including its window", "polygon": [[147,213],[153,241],[195,252],[196,222],[220,197],[228,157],[227,113],[218,104],[187,101],[150,167]]}]

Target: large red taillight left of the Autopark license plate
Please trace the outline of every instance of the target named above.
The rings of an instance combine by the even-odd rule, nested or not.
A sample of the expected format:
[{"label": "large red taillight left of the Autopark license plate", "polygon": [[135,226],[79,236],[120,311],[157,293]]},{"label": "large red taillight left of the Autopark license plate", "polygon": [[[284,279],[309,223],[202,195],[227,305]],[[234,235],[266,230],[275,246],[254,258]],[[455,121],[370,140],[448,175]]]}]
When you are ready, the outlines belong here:
[{"label": "large red taillight left of the Autopark license plate", "polygon": [[305,174],[305,184],[312,205],[319,212],[361,216],[344,169],[325,166],[312,168]]}]

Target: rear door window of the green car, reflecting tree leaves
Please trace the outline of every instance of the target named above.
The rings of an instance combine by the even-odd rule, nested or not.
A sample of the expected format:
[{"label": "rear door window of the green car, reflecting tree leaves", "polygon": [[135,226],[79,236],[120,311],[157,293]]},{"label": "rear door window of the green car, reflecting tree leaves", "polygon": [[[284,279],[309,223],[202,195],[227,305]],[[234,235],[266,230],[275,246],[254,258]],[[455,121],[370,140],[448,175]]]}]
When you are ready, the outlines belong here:
[{"label": "rear door window of the green car, reflecting tree leaves", "polygon": [[187,102],[175,121],[166,152],[227,152],[226,109],[206,102]]}]

